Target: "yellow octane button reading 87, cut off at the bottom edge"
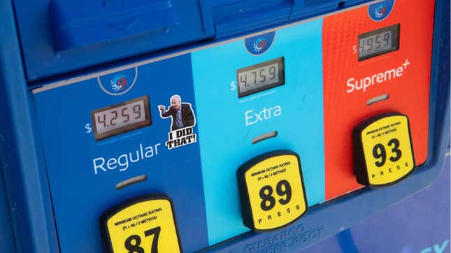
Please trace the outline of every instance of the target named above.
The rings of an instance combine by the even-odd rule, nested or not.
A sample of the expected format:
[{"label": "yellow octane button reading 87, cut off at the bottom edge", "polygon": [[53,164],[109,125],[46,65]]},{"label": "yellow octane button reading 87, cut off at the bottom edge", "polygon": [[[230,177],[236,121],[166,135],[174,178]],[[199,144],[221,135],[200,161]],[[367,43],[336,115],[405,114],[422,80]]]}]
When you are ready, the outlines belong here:
[{"label": "yellow octane button reading 87, cut off at the bottom edge", "polygon": [[111,208],[101,217],[107,252],[181,252],[172,203],[166,196],[145,196]]}]

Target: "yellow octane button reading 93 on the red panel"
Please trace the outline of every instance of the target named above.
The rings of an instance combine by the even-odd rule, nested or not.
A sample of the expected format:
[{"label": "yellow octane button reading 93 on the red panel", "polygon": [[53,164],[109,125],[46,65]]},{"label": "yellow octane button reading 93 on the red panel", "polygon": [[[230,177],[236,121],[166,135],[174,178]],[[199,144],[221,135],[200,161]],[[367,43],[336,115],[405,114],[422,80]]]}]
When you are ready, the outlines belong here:
[{"label": "yellow octane button reading 93 on the red panel", "polygon": [[408,117],[399,113],[373,117],[353,133],[357,182],[384,187],[415,170]]}]

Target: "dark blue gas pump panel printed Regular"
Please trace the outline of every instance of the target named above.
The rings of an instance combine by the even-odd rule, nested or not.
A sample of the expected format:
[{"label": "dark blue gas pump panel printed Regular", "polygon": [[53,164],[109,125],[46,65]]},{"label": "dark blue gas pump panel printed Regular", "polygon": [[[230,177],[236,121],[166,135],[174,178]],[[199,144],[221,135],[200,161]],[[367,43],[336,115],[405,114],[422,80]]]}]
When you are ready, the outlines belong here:
[{"label": "dark blue gas pump panel printed Regular", "polygon": [[[167,74],[168,70],[177,74]],[[115,84],[111,80],[116,74],[127,79],[124,91],[130,88],[120,96],[103,90]],[[189,55],[35,95],[62,252],[101,252],[101,213],[143,194],[167,194],[173,199],[186,252],[208,245],[199,145],[191,143],[171,150],[165,147],[171,120],[159,117],[158,105],[168,106],[174,94],[196,109]],[[87,125],[92,110],[144,95],[150,99],[152,125],[94,140]],[[110,158],[117,162],[108,167]],[[117,183],[138,175],[147,175],[148,179],[115,188]]]}]

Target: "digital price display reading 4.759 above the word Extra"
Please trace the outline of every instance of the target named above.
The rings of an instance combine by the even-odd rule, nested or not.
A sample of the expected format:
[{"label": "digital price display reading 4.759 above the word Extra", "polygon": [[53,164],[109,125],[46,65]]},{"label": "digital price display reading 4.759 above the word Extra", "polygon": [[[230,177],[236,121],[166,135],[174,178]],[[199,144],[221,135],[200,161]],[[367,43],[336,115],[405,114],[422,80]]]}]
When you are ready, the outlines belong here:
[{"label": "digital price display reading 4.759 above the word Extra", "polygon": [[236,71],[238,97],[248,96],[265,89],[285,84],[284,58],[272,59]]}]

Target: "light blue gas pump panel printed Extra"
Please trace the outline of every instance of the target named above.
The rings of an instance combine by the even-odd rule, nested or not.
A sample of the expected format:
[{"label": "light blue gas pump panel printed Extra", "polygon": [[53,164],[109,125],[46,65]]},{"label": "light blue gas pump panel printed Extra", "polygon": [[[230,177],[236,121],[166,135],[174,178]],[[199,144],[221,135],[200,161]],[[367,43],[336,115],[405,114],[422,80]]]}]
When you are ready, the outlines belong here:
[{"label": "light blue gas pump panel printed Extra", "polygon": [[[324,201],[322,20],[276,31],[267,46],[271,48],[262,55],[251,55],[244,40],[192,53],[210,245],[248,231],[241,218],[236,170],[264,152],[297,152],[309,205]],[[236,70],[278,57],[285,57],[285,85],[238,99]],[[268,112],[276,106],[280,115],[273,114],[278,109]],[[250,124],[264,108],[266,120]],[[278,136],[251,143],[270,131]]]}]

